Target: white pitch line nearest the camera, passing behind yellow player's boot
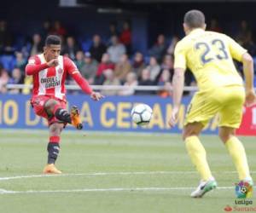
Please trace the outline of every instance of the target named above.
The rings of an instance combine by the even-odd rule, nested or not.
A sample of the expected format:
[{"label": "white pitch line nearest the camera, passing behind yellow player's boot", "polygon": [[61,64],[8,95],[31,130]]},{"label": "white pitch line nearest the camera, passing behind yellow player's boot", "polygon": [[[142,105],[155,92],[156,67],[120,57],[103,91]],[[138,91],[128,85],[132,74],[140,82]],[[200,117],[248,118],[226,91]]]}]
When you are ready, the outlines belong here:
[{"label": "white pitch line nearest the camera, passing behind yellow player's boot", "polygon": [[[218,187],[218,190],[232,189],[234,187]],[[156,191],[172,191],[172,190],[192,190],[195,187],[113,187],[113,188],[82,188],[82,189],[63,189],[63,190],[27,190],[27,191],[9,191],[0,189],[0,194],[16,194],[16,193],[99,193],[99,192],[156,192]]]}]

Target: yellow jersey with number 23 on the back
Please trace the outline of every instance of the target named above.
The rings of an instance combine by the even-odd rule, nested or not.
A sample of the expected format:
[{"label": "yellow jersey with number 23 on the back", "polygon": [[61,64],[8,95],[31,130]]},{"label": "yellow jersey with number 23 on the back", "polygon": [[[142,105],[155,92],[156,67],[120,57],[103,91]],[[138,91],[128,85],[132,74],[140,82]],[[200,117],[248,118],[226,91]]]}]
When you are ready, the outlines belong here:
[{"label": "yellow jersey with number 23 on the back", "polygon": [[174,51],[174,68],[189,67],[200,90],[242,85],[233,59],[247,52],[231,37],[197,28],[183,37]]}]

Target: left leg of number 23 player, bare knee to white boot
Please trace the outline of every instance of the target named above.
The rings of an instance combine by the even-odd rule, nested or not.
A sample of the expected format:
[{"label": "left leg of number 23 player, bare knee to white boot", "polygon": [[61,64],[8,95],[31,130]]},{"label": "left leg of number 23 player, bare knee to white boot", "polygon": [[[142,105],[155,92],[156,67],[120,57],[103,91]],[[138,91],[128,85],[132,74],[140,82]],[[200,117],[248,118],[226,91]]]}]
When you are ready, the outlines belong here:
[{"label": "left leg of number 23 player, bare knee to white boot", "polygon": [[192,198],[201,198],[205,193],[217,187],[217,182],[212,176],[207,163],[206,150],[198,138],[202,129],[203,125],[201,123],[192,123],[187,124],[183,130],[183,140],[185,141],[189,157],[201,175],[199,186],[190,194]]}]

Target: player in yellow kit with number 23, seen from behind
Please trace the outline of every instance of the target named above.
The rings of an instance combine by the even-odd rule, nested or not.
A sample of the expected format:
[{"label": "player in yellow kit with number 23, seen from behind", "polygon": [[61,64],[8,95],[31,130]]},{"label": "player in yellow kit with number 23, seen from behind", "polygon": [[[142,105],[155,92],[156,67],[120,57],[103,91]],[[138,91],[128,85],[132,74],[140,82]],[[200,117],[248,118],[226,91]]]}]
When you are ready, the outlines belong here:
[{"label": "player in yellow kit with number 23, seen from behind", "polygon": [[[240,181],[253,186],[247,156],[235,130],[241,124],[243,104],[253,104],[253,59],[232,38],[205,31],[205,16],[199,10],[184,15],[183,29],[186,37],[177,43],[174,57],[173,109],[169,124],[177,122],[177,113],[183,95],[184,72],[193,72],[199,91],[195,93],[185,118],[183,140],[189,157],[201,175],[199,187],[191,193],[201,198],[217,187],[217,182],[207,164],[207,154],[198,136],[208,121],[219,115],[219,137],[228,149]],[[245,88],[232,59],[241,61],[245,76]]]}]

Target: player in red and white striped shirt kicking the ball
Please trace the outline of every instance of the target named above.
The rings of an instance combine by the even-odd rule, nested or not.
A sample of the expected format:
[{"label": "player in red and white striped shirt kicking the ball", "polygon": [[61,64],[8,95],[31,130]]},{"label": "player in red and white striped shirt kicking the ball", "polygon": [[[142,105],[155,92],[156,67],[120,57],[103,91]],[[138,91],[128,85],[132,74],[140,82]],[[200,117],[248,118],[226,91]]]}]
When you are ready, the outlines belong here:
[{"label": "player in red and white striped shirt kicking the ball", "polygon": [[61,38],[49,35],[45,40],[44,53],[30,57],[26,65],[26,75],[33,76],[32,107],[34,112],[46,118],[49,124],[48,164],[44,167],[44,174],[61,174],[55,167],[55,160],[60,151],[61,130],[67,124],[72,124],[78,130],[83,128],[78,108],[72,107],[70,113],[66,109],[67,75],[70,75],[91,99],[102,99],[102,95],[94,92],[82,78],[73,61],[60,55],[60,52]]}]

